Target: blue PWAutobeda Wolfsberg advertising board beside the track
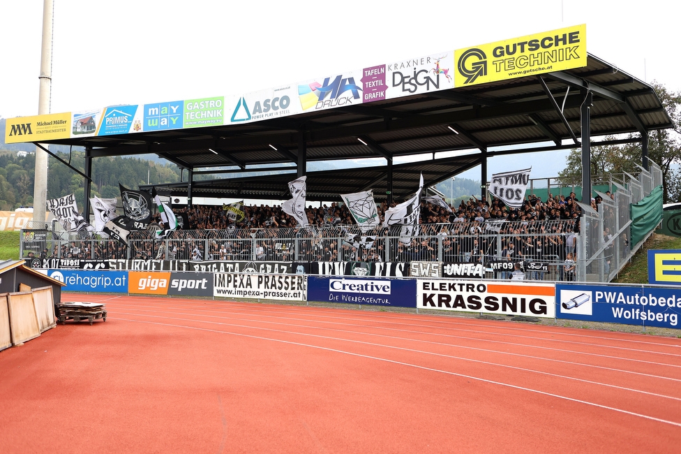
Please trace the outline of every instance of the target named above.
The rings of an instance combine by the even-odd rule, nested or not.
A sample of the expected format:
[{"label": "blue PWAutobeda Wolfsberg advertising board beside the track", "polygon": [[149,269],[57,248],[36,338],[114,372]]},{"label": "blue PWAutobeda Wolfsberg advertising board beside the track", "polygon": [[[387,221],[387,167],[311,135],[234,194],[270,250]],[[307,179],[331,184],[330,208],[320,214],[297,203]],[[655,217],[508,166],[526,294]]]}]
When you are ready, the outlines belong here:
[{"label": "blue PWAutobeda Wolfsberg advertising board beside the track", "polygon": [[557,318],[680,328],[681,288],[555,285]]}]

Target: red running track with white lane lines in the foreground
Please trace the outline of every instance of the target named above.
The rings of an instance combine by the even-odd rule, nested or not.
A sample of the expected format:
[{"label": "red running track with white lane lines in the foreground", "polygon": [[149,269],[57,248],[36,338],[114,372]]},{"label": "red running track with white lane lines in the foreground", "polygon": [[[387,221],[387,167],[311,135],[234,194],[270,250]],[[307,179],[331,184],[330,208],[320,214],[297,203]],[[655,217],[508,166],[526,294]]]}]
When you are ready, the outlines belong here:
[{"label": "red running track with white lane lines in the foreground", "polygon": [[678,453],[681,339],[114,295],[0,352],[0,453]]}]

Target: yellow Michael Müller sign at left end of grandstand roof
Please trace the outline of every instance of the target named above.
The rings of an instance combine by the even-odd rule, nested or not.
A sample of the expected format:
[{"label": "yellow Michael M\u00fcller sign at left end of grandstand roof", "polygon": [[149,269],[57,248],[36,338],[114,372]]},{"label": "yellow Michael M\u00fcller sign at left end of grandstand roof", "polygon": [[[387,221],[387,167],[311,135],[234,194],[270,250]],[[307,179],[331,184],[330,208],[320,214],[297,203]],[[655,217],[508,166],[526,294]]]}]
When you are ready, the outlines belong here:
[{"label": "yellow Michael M\u00fcller sign at left end of grandstand roof", "polygon": [[5,124],[5,143],[67,139],[70,137],[70,121],[71,112],[8,118]]}]

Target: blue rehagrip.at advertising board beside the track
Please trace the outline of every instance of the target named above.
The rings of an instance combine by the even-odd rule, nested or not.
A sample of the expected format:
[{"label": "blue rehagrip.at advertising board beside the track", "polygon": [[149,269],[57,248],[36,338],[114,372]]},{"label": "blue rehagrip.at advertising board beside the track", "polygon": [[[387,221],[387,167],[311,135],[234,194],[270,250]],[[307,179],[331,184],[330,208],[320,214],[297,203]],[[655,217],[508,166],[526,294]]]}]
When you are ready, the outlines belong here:
[{"label": "blue rehagrip.at advertising board beside the track", "polygon": [[47,276],[66,284],[63,292],[128,293],[127,271],[47,270]]}]

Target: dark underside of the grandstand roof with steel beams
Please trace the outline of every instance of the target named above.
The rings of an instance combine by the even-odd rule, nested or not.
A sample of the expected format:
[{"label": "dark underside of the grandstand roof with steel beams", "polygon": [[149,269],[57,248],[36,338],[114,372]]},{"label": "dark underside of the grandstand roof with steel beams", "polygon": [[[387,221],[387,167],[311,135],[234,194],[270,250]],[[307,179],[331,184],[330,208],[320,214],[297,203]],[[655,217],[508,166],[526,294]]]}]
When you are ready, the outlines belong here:
[{"label": "dark underside of the grandstand roof with steel beams", "polygon": [[[227,170],[244,175],[194,180],[194,197],[285,198],[287,182],[296,175],[292,163],[297,163],[303,142],[308,163],[431,154],[433,159],[393,166],[392,191],[399,199],[414,192],[420,172],[427,186],[447,180],[477,166],[485,156],[481,150],[490,157],[580,147],[582,89],[593,94],[592,137],[672,126],[650,85],[588,54],[582,68],[260,122],[44,142],[92,147],[93,157],[154,153],[193,170],[194,175]],[[517,148],[491,149],[507,146]],[[435,153],[450,151],[461,156],[434,159]],[[262,172],[253,168],[262,164],[280,174],[249,175],[249,171]],[[338,193],[374,189],[375,198],[382,200],[386,173],[387,166],[308,171],[307,197],[335,200]],[[182,195],[186,185],[163,187]]]}]

